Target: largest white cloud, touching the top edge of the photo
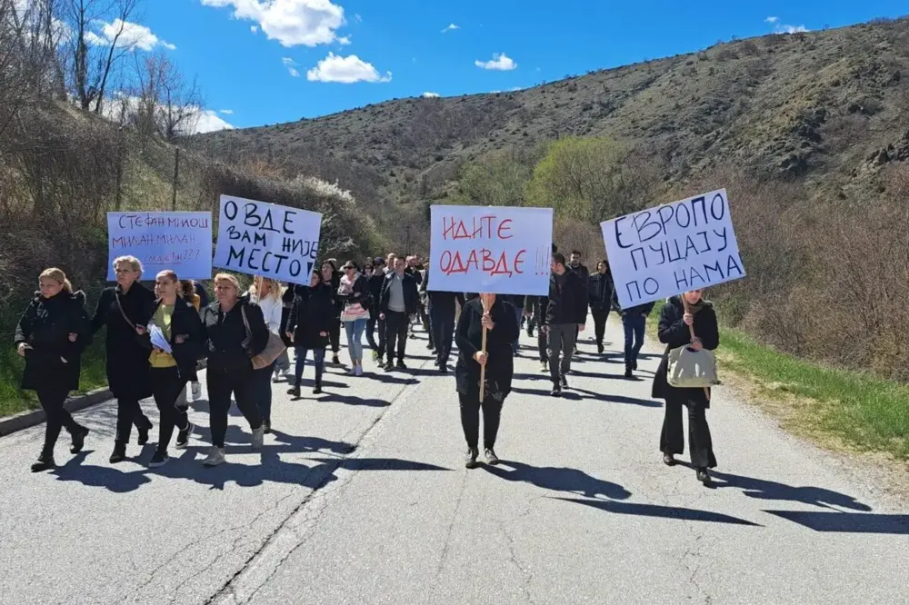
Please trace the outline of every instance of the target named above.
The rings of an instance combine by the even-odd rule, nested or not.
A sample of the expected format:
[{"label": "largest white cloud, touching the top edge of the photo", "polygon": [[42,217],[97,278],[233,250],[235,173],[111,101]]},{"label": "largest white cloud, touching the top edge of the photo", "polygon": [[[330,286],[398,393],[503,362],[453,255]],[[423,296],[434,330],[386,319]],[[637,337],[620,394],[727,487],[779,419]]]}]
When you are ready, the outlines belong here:
[{"label": "largest white cloud, touching the top edge of the photo", "polygon": [[255,21],[269,40],[286,47],[327,45],[345,25],[344,8],[331,0],[202,0],[206,6],[234,9],[235,19]]}]

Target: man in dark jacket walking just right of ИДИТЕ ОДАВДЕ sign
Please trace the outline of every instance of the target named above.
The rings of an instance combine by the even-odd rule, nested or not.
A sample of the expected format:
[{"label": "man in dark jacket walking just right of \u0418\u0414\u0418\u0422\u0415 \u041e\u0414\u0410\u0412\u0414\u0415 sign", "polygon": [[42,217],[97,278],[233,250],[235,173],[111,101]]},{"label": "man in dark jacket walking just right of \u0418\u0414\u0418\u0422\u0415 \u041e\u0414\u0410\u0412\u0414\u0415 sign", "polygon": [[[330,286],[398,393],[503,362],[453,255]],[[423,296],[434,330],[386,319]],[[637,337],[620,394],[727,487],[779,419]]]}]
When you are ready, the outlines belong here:
[{"label": "man in dark jacket walking just right of \u0418\u0414\u0418\u0422\u0415 \u041e\u0414\u0410\u0412\u0414\u0415 sign", "polygon": [[568,387],[571,355],[576,333],[587,322],[587,291],[574,271],[565,266],[562,253],[553,254],[553,273],[549,278],[549,302],[544,315],[544,328],[549,343],[549,373],[553,379],[553,396]]}]

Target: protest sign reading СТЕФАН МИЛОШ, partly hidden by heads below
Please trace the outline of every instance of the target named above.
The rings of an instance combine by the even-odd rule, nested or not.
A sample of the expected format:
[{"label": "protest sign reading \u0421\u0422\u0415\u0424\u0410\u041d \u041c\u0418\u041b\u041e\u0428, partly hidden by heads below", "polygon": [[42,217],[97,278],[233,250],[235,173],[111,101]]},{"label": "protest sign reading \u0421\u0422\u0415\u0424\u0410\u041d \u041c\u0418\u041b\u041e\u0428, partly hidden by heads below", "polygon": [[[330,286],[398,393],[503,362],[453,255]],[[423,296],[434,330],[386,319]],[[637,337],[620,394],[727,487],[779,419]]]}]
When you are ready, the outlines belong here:
[{"label": "protest sign reading \u0421\u0422\u0415\u0424\u0410\u041d \u041c\u0418\u041b\u041e\u0428, partly hidden by heads below", "polygon": [[212,277],[212,213],[107,213],[107,279],[113,282],[114,259],[135,256],[144,279],[172,269],[177,277]]}]

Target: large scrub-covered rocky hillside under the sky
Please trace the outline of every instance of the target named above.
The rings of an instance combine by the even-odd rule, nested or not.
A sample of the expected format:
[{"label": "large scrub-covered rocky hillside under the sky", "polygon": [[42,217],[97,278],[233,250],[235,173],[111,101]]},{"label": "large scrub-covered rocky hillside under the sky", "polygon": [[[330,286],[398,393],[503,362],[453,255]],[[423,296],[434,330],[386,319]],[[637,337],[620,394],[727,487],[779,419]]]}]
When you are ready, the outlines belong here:
[{"label": "large scrub-covered rocky hillside under the sky", "polygon": [[909,20],[879,21],[734,41],[514,93],[398,99],[189,144],[337,179],[377,213],[443,197],[459,167],[487,152],[564,135],[614,138],[659,160],[672,182],[722,160],[834,192],[909,156],[907,76]]}]

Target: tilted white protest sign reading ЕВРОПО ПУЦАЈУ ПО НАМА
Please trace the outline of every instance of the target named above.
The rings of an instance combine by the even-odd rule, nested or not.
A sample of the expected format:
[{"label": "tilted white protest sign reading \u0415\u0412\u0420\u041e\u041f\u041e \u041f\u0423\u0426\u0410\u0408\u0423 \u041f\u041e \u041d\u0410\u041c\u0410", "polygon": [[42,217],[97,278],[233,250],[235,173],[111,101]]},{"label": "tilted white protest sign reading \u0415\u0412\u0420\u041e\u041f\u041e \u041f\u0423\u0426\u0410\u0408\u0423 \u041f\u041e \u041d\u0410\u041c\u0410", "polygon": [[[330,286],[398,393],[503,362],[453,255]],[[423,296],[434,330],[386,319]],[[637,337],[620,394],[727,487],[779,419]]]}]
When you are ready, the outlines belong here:
[{"label": "tilted white protest sign reading \u0415\u0412\u0420\u041e\u041f\u041e \u041f\u0423\u0426\u0410\u0408\u0423 \u041f\u041e \u041d\u0410\u041c\u0410", "polygon": [[744,277],[725,189],[600,226],[623,308]]}]

